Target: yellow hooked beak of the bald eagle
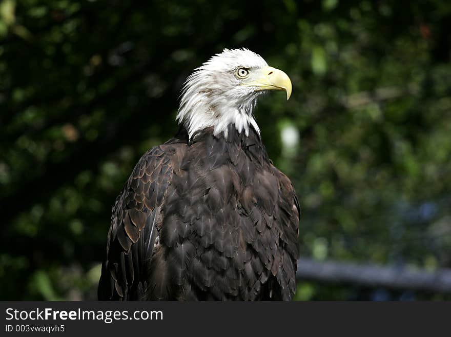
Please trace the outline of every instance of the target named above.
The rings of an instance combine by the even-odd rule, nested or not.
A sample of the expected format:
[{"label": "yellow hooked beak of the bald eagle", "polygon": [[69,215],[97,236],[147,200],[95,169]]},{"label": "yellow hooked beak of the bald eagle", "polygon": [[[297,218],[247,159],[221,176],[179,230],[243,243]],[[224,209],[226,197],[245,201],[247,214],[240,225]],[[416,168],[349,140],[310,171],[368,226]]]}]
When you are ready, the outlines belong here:
[{"label": "yellow hooked beak of the bald eagle", "polygon": [[291,96],[290,77],[282,70],[273,67],[263,67],[249,78],[250,82],[241,83],[245,87],[257,87],[257,90],[285,90],[286,100]]}]

